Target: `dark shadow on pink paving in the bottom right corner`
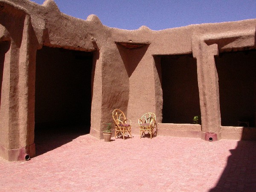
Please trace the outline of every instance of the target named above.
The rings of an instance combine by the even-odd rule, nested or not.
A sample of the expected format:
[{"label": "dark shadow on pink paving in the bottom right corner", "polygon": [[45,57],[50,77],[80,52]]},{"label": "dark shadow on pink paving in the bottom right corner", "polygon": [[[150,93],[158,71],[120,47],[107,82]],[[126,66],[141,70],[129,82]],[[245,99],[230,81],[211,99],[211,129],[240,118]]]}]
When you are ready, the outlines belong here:
[{"label": "dark shadow on pink paving in the bottom right corner", "polygon": [[227,166],[210,192],[256,191],[256,141],[238,141],[230,152]]}]

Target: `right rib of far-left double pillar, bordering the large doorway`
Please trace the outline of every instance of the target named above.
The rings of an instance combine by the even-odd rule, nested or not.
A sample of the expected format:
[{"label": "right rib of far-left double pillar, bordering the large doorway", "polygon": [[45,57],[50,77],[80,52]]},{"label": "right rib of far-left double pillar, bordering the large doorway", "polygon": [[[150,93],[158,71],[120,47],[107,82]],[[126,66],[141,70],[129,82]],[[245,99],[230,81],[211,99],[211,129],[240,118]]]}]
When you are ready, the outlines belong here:
[{"label": "right rib of far-left double pillar, bordering the large doorway", "polygon": [[[35,156],[35,58],[37,45],[30,16],[26,15],[18,67],[18,121],[20,148],[24,150],[24,154],[29,154],[32,157]],[[21,152],[19,160],[23,160],[24,154]]]}]

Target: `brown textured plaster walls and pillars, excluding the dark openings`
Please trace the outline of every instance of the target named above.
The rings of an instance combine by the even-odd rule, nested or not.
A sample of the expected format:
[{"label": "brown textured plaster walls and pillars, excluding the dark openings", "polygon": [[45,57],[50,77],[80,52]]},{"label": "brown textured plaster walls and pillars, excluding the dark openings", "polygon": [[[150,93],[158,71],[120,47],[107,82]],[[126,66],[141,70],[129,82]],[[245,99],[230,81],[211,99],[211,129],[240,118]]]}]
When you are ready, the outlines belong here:
[{"label": "brown textured plaster walls and pillars, excluding the dark openings", "polygon": [[[89,15],[87,20],[65,15],[53,0],[46,0],[43,5],[29,0],[0,3],[0,46],[9,42],[5,53],[0,53],[1,156],[24,148],[35,155],[29,149],[34,143],[35,57],[43,45],[93,52],[90,133],[98,139],[102,139],[105,123],[112,121],[114,108],[120,108],[131,119],[134,133],[137,119],[146,112],[156,113],[161,123],[161,56],[192,54],[197,61],[202,133],[216,133],[221,139],[214,57],[221,52],[255,49],[255,19],[161,31],[146,26],[123,30],[102,25],[96,15]],[[145,45],[130,49],[116,42]]]}]

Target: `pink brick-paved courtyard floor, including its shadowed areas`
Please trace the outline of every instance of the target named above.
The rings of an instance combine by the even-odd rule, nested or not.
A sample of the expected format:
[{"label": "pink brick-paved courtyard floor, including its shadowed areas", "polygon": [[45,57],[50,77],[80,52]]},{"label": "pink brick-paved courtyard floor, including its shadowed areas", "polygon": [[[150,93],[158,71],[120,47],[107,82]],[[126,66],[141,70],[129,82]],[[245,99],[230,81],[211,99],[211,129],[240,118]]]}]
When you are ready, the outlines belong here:
[{"label": "pink brick-paved courtyard floor, including its shadowed areas", "polygon": [[256,142],[52,138],[39,140],[39,155],[29,161],[0,158],[1,192],[256,191]]}]

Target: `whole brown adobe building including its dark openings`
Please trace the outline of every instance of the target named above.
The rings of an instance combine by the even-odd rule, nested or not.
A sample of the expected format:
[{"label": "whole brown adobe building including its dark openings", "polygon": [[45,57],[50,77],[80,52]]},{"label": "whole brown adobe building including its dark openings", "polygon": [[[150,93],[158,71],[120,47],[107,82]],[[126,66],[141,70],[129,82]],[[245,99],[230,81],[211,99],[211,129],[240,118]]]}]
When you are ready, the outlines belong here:
[{"label": "whole brown adobe building including its dark openings", "polygon": [[102,139],[115,108],[134,135],[153,112],[157,135],[255,139],[255,35],[256,19],[123,30],[65,15],[53,0],[0,0],[0,156],[35,156],[40,125]]}]

